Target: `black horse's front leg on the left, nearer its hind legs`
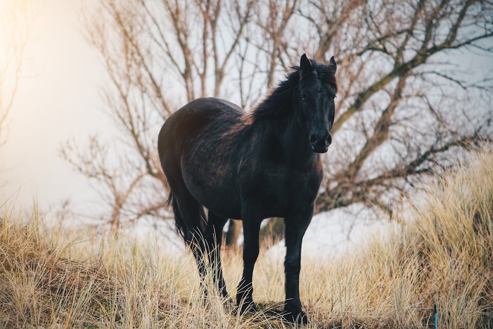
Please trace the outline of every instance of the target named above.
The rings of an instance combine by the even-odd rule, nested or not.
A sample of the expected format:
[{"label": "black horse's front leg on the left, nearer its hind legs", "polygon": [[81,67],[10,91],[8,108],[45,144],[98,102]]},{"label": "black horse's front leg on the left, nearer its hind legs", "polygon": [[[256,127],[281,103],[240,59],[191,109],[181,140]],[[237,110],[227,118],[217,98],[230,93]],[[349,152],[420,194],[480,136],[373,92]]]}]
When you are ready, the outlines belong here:
[{"label": "black horse's front leg on the left, nearer its hind legs", "polygon": [[236,293],[236,303],[240,306],[240,312],[255,312],[256,307],[253,303],[253,267],[259,253],[259,231],[260,219],[252,219],[244,217],[243,219],[243,235],[245,242],[243,244],[243,275],[238,285]]}]

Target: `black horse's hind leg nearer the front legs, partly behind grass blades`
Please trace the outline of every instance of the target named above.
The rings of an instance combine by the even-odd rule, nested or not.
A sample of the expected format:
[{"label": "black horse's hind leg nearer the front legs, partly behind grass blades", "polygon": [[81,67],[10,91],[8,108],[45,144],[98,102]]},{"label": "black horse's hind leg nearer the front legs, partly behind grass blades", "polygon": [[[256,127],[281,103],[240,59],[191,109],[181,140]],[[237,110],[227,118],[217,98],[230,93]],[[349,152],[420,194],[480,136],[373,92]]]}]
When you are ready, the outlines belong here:
[{"label": "black horse's hind leg nearer the front legs, partly behind grass blades", "polygon": [[222,244],[222,229],[228,219],[221,217],[211,211],[208,214],[206,227],[206,243],[208,246],[208,256],[213,274],[213,282],[217,284],[219,294],[223,297],[228,297],[226,291],[226,283],[222,275],[221,266],[221,244]]}]

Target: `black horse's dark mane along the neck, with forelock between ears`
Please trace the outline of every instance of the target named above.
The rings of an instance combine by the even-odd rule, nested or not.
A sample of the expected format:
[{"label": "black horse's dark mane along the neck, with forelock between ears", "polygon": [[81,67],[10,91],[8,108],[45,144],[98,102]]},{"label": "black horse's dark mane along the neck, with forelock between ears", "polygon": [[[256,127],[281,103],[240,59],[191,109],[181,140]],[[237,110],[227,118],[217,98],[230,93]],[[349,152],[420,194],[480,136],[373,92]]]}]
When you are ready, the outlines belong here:
[{"label": "black horse's dark mane along the neck, with forelock between ears", "polygon": [[[337,81],[334,76],[334,71],[331,65],[318,64],[315,60],[310,60],[314,68],[310,74],[315,74],[321,80],[330,83],[334,86],[337,92]],[[246,114],[246,120],[250,123],[256,120],[272,118],[287,114],[288,111],[294,109],[294,104],[299,97],[296,92],[298,84],[302,79],[301,69],[299,66],[292,67],[293,72],[286,76],[286,79],[281,81],[279,85],[268,94],[265,99],[260,102],[253,110]],[[306,76],[304,76],[305,78]]]}]

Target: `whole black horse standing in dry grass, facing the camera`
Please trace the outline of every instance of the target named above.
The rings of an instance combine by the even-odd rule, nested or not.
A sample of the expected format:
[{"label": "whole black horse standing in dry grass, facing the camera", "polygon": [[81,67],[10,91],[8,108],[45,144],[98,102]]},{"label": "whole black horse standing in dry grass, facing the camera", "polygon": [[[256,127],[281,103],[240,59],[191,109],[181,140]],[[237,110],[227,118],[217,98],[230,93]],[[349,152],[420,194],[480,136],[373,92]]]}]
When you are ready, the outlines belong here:
[{"label": "whole black horse standing in dry grass, facing the camera", "polygon": [[249,113],[217,98],[188,103],[164,123],[158,150],[176,229],[190,246],[202,278],[207,255],[224,297],[222,230],[227,219],[243,220],[244,269],[236,295],[241,312],[255,311],[252,273],[260,223],[284,218],[284,317],[306,324],[299,297],[301,242],[323,175],[318,153],[326,152],[332,140],[336,62],[332,57],[329,65],[318,64],[303,55],[300,67],[293,69]]}]

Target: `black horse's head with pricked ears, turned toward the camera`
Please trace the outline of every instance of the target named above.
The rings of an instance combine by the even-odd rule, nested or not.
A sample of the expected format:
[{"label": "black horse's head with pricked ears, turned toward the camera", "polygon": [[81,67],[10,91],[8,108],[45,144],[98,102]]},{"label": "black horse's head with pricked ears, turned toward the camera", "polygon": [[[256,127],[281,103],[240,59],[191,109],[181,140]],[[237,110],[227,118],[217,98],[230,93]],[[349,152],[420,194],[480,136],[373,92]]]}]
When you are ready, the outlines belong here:
[{"label": "black horse's head with pricked ears, turned toward the camera", "polygon": [[318,64],[301,56],[299,108],[301,122],[306,125],[310,146],[314,152],[327,151],[332,137],[330,129],[334,123],[334,98],[337,92],[335,73],[337,64],[334,57],[329,65]]}]

